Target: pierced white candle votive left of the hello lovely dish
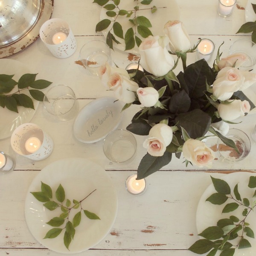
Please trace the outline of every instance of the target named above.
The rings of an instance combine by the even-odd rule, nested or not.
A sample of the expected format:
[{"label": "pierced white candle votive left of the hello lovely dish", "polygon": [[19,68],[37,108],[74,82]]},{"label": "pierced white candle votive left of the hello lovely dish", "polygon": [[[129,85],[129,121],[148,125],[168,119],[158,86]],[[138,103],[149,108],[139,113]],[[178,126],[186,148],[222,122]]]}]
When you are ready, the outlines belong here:
[{"label": "pierced white candle votive left of the hello lovely dish", "polygon": [[12,134],[11,145],[17,154],[36,161],[49,157],[53,150],[52,138],[33,123],[18,126]]}]

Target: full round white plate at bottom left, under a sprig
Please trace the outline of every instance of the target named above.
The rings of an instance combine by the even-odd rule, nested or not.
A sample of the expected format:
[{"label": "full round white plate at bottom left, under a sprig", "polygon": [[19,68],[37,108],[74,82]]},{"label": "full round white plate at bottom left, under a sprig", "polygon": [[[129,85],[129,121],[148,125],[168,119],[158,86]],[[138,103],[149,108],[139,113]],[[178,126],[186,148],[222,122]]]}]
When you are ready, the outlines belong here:
[{"label": "full round white plate at bottom left, under a sprig", "polygon": [[[41,181],[52,188],[54,198],[55,190],[61,184],[66,198],[71,202],[73,199],[82,200],[96,189],[82,202],[82,207],[96,213],[100,220],[90,220],[81,212],[81,222],[76,227],[74,239],[69,246],[70,250],[64,246],[64,231],[54,239],[43,239],[52,228],[46,222],[59,216],[61,210],[46,209],[43,206],[44,203],[36,200],[30,193],[41,191]],[[70,220],[78,210],[70,211]],[[25,217],[30,232],[45,247],[59,253],[79,253],[98,244],[109,233],[115,221],[116,212],[117,195],[111,178],[101,166],[83,158],[58,160],[46,166],[32,181],[25,200]]]}]

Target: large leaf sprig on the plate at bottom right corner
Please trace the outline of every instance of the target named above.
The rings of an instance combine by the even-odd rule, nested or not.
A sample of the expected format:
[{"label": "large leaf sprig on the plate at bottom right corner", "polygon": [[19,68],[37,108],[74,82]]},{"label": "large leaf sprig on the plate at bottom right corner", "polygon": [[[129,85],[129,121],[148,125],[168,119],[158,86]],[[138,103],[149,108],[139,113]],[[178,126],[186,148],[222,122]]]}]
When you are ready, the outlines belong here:
[{"label": "large leaf sprig on the plate at bottom right corner", "polygon": [[[233,256],[237,248],[243,249],[251,247],[246,237],[254,238],[254,233],[249,227],[250,224],[246,222],[246,218],[250,212],[253,211],[256,200],[250,205],[248,198],[241,198],[238,189],[239,183],[236,184],[232,193],[226,181],[211,178],[217,193],[209,196],[206,201],[221,205],[230,199],[231,202],[224,206],[222,213],[233,212],[241,208],[243,217],[238,218],[234,215],[230,215],[229,218],[220,219],[216,226],[207,227],[202,233],[198,234],[198,236],[202,236],[204,239],[196,241],[189,247],[189,250],[197,254],[209,252],[207,256],[215,256],[218,250],[220,250],[220,256]],[[250,177],[248,187],[252,189],[256,188],[256,177]],[[252,191],[252,198],[253,197],[256,197],[255,189]],[[234,241],[232,242],[232,240]]]}]

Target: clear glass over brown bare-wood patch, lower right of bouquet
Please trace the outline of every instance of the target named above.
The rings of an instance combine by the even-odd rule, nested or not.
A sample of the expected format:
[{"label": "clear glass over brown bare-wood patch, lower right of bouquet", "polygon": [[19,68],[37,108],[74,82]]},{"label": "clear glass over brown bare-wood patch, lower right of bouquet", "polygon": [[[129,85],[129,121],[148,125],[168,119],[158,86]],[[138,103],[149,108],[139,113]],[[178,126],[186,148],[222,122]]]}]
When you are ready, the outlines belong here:
[{"label": "clear glass over brown bare-wood patch, lower right of bouquet", "polygon": [[241,161],[250,153],[251,143],[250,139],[243,131],[239,129],[230,129],[225,136],[233,140],[238,148],[238,152],[234,148],[224,144],[221,139],[217,141],[217,150],[221,158],[228,161]]}]

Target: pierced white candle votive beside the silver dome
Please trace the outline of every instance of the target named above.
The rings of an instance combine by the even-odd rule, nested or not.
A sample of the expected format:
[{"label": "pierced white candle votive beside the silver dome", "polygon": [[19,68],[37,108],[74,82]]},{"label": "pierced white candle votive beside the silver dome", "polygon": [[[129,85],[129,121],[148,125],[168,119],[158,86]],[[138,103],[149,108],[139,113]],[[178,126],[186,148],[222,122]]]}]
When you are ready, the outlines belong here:
[{"label": "pierced white candle votive beside the silver dome", "polygon": [[67,58],[76,51],[75,37],[62,19],[47,20],[41,26],[40,38],[56,58]]}]

